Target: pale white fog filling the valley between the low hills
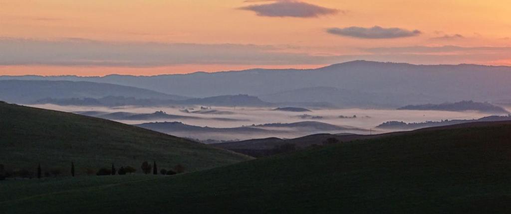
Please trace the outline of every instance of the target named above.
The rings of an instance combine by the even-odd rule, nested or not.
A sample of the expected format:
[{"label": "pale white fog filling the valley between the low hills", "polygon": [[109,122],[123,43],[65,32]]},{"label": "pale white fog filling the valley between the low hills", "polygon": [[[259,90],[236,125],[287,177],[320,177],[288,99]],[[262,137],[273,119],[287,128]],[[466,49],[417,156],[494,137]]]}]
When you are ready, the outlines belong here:
[{"label": "pale white fog filling the valley between the low hills", "polygon": [[[204,111],[216,110],[214,113],[192,113],[201,109],[201,106],[189,107],[84,107],[84,106],[58,106],[53,104],[30,105],[32,107],[52,109],[66,112],[89,112],[97,111],[106,113],[130,112],[130,113],[154,113],[164,111],[167,114],[190,116],[193,118],[156,119],[156,120],[114,120],[120,123],[136,125],[153,122],[181,122],[186,125],[212,127],[212,128],[235,128],[242,126],[271,124],[271,123],[296,123],[304,121],[315,121],[336,126],[358,128],[357,130],[293,130],[292,128],[265,128],[271,133],[236,133],[228,131],[218,132],[188,132],[170,131],[166,132],[180,137],[188,137],[198,140],[245,140],[253,138],[280,137],[295,138],[315,133],[384,133],[397,130],[377,129],[376,126],[387,121],[403,121],[406,123],[440,121],[440,120],[470,120],[491,114],[477,111],[425,111],[425,110],[392,110],[392,109],[314,109],[307,112],[275,111],[272,108],[245,108],[245,107],[207,107]],[[183,112],[188,109],[189,113]],[[356,116],[356,117],[354,117]],[[344,117],[344,118],[341,118]],[[286,130],[285,132],[282,130]],[[370,131],[369,131],[370,130]],[[282,131],[282,132],[281,132]]]}]

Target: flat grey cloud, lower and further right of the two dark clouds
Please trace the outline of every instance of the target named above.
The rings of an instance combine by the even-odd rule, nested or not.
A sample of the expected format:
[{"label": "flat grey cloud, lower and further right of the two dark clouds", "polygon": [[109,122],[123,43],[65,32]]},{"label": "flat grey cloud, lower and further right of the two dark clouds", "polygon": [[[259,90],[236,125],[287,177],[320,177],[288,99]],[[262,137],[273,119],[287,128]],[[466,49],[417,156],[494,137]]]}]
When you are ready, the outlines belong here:
[{"label": "flat grey cloud, lower and further right of the two dark clouds", "polygon": [[409,31],[401,28],[382,28],[380,26],[375,26],[373,28],[329,28],[327,32],[338,36],[349,36],[361,39],[391,39],[421,34],[419,30]]}]

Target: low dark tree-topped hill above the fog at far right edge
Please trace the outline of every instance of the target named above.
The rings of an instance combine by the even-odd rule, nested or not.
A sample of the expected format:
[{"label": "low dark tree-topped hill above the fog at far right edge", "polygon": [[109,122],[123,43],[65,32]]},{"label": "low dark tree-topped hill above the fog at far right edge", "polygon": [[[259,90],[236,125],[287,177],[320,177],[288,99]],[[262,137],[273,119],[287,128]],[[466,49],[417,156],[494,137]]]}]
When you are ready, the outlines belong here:
[{"label": "low dark tree-topped hill above the fog at far right edge", "polygon": [[439,111],[480,111],[487,113],[509,113],[507,110],[500,106],[495,106],[490,103],[478,103],[474,101],[460,101],[457,103],[442,103],[442,104],[425,104],[425,105],[408,105],[398,110],[439,110]]}]

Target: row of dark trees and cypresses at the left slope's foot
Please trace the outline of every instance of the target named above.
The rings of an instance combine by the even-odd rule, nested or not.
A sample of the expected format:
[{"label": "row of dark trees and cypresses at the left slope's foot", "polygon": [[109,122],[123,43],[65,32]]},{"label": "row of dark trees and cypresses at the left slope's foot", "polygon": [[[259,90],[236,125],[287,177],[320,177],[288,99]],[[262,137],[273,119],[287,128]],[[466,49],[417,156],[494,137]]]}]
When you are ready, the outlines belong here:
[{"label": "row of dark trees and cypresses at the left slope's foot", "polygon": [[[158,167],[156,165],[156,161],[153,161],[153,164],[151,165],[150,163],[148,163],[147,161],[144,161],[142,163],[142,172],[144,174],[149,174],[152,173],[154,175],[158,175]],[[162,174],[162,175],[175,175],[175,174],[178,174],[178,173],[183,173],[185,171],[184,167],[181,165],[181,164],[178,164],[176,165],[172,170],[166,170],[166,169],[160,169],[159,173]],[[71,162],[71,176],[75,177],[75,163],[74,162]],[[94,169],[90,169],[90,168],[87,168],[85,169],[85,172],[87,175],[98,175],[98,176],[102,176],[102,175],[126,175],[126,174],[132,174],[132,173],[135,173],[136,172],[136,169],[129,166],[129,165],[126,165],[126,166],[123,166],[121,168],[119,168],[119,170],[117,170],[115,168],[115,165],[112,163],[112,166],[110,169],[108,168],[101,168],[99,169],[97,172],[94,170]],[[5,180],[6,178],[9,178],[9,177],[21,177],[21,178],[34,178],[37,176],[37,178],[42,178],[43,176],[44,177],[50,177],[50,176],[54,176],[54,177],[57,177],[59,175],[62,174],[62,171],[60,169],[51,169],[49,171],[45,171],[43,173],[42,171],[42,168],[41,168],[41,164],[38,164],[37,165],[37,173],[35,174],[33,171],[29,171],[29,170],[26,170],[26,169],[22,169],[22,170],[16,170],[16,171],[9,171],[9,170],[6,170],[4,165],[3,164],[0,164],[0,180]]]}]

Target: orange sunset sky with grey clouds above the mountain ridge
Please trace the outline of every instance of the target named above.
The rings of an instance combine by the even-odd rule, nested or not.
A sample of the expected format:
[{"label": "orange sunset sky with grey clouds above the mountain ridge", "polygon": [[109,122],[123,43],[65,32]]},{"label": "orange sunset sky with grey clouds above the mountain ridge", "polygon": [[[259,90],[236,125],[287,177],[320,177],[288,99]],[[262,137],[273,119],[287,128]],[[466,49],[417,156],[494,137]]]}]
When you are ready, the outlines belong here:
[{"label": "orange sunset sky with grey clouds above the mountain ridge", "polygon": [[511,65],[508,0],[0,0],[0,75]]}]

